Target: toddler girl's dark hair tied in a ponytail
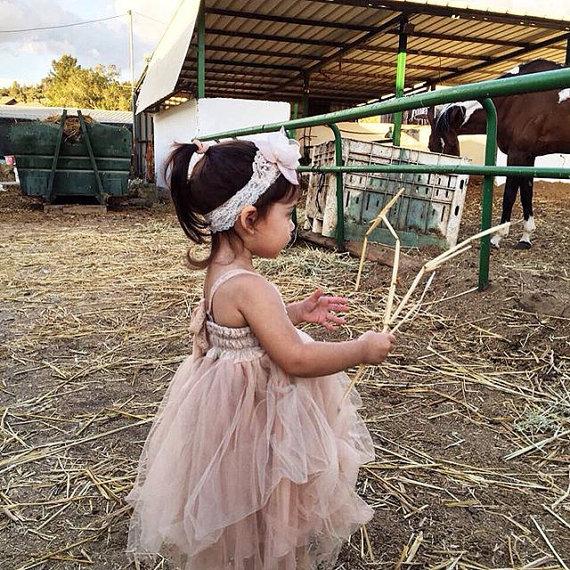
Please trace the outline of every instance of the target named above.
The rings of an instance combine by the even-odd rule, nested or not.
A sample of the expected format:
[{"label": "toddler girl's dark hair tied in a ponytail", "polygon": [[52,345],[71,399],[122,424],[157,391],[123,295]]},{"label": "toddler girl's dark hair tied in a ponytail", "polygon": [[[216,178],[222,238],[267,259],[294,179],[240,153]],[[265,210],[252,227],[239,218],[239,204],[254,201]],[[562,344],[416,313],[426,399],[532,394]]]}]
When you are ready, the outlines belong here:
[{"label": "toddler girl's dark hair tied in a ponytail", "polygon": [[[211,242],[210,254],[205,259],[195,259],[188,251],[190,266],[204,269],[218,252],[223,236],[239,236],[233,228],[211,234],[203,216],[221,206],[247,184],[253,174],[257,147],[250,141],[242,140],[211,146],[196,163],[188,178],[190,160],[197,150],[195,144],[176,145],[166,162],[165,174],[170,171],[170,193],[184,233],[194,243]],[[259,216],[265,216],[274,202],[292,199],[297,189],[282,174],[279,175],[254,204]],[[229,241],[234,248],[236,240]]]}]

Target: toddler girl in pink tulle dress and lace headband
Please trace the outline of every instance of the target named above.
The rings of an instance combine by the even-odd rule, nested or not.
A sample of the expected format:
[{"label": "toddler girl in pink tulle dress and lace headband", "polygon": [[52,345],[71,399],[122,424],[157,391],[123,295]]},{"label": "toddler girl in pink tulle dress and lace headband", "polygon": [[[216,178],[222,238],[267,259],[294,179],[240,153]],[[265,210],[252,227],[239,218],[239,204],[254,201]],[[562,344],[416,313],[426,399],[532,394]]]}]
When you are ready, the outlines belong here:
[{"label": "toddler girl in pink tulle dress and lace headband", "polygon": [[281,131],[179,145],[169,160],[180,224],[211,251],[188,254],[207,269],[193,352],[166,391],[127,497],[135,558],[160,552],[185,570],[332,568],[372,517],[355,492],[372,440],[356,390],[343,401],[342,371],[382,362],[394,337],[313,341],[295,326],[335,328],[347,300],[317,290],[285,305],[253,266],[290,240],[299,156]]}]

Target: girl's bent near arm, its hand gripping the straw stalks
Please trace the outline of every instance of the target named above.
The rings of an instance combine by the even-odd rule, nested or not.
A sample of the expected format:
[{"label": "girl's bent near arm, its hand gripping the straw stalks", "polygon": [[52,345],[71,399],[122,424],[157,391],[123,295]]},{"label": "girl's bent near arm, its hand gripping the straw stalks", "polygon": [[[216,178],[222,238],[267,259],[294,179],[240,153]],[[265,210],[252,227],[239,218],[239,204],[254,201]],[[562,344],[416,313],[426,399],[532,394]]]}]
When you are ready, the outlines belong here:
[{"label": "girl's bent near arm, its hand gripping the straw stalks", "polygon": [[238,310],[261,346],[289,374],[325,376],[360,363],[377,364],[392,349],[392,335],[374,332],[345,342],[303,342],[271,284],[259,276],[243,276],[239,281],[234,297]]}]

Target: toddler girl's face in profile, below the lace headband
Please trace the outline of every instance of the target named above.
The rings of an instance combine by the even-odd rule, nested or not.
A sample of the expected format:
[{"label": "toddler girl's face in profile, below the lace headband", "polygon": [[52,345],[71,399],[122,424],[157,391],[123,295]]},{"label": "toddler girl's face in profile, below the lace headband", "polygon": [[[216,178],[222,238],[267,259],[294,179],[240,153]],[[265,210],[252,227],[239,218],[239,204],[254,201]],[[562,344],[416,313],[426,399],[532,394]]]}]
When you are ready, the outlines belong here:
[{"label": "toddler girl's face in profile, below the lace headband", "polygon": [[255,255],[275,258],[291,241],[295,230],[291,216],[296,204],[296,198],[289,202],[275,202],[270,206],[268,214],[256,223]]}]

